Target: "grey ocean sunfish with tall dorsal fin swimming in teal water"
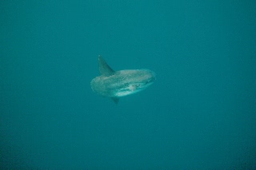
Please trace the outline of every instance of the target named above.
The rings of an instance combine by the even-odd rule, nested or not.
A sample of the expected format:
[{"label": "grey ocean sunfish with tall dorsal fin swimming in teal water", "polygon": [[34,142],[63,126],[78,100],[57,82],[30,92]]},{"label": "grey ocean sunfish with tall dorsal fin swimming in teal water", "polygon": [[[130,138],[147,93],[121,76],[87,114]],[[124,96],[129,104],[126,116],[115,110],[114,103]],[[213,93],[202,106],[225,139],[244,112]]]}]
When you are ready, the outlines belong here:
[{"label": "grey ocean sunfish with tall dorsal fin swimming in teal water", "polygon": [[156,80],[156,74],[150,69],[123,69],[114,71],[104,58],[98,56],[100,76],[90,81],[90,87],[102,97],[110,97],[118,104],[120,97],[138,93],[147,89]]}]

